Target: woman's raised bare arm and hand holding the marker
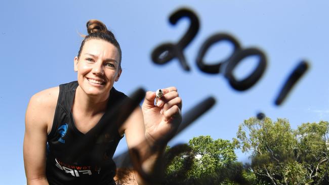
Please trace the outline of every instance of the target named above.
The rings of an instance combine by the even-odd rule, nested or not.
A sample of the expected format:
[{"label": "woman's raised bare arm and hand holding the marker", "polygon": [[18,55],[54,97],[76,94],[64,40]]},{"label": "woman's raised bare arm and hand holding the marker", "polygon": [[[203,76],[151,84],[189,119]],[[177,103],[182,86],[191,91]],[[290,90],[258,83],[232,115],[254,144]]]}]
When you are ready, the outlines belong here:
[{"label": "woman's raised bare arm and hand holding the marker", "polygon": [[[154,105],[155,92],[148,91],[142,106],[124,124],[129,149],[137,149],[140,167],[150,177],[160,180],[164,175],[161,158],[167,142],[181,122],[182,102],[175,87],[163,89],[165,95]],[[156,150],[152,151],[156,146]],[[132,156],[134,158],[134,156]],[[135,173],[138,184],[147,184]]]}]

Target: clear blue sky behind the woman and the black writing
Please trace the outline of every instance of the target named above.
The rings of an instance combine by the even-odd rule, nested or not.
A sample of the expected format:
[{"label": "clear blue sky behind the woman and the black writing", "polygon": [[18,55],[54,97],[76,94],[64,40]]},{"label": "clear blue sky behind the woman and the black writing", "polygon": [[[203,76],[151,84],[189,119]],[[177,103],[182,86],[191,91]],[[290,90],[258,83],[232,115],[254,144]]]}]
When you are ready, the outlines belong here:
[{"label": "clear blue sky behind the woman and the black writing", "polygon": [[[196,37],[184,50],[191,67],[182,70],[177,59],[155,65],[150,55],[162,42],[177,42],[189,21],[169,23],[175,10],[187,7],[200,20]],[[25,184],[22,145],[24,115],[36,92],[76,80],[73,58],[86,34],[86,22],[99,19],[113,31],[122,49],[123,72],[114,85],[130,94],[138,87],[156,90],[176,86],[183,113],[208,96],[216,105],[170,143],[185,143],[198,135],[230,140],[238,125],[261,111],[289,119],[292,128],[329,118],[327,1],[6,1],[0,11],[2,81],[0,120],[0,184]],[[242,48],[257,47],[267,56],[264,76],[252,88],[235,91],[221,74],[196,66],[201,44],[211,35],[233,35]],[[205,56],[218,61],[230,55],[230,45],[215,44]],[[310,68],[281,106],[274,99],[282,83],[301,60]],[[210,62],[211,63],[211,62]],[[257,64],[245,60],[235,70],[239,78]],[[117,153],[126,150],[122,141]],[[236,151],[240,161],[247,156]]]}]

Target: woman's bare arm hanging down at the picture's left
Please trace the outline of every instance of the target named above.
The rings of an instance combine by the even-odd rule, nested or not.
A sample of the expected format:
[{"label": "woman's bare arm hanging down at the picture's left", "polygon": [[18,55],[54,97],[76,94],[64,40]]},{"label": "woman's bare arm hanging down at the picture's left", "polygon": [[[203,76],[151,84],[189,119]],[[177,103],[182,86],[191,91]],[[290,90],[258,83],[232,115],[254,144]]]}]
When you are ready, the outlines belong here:
[{"label": "woman's bare arm hanging down at the picture's left", "polygon": [[34,95],[26,110],[23,156],[28,185],[49,184],[46,177],[46,144],[49,121],[55,112],[54,92],[56,95],[53,88]]}]

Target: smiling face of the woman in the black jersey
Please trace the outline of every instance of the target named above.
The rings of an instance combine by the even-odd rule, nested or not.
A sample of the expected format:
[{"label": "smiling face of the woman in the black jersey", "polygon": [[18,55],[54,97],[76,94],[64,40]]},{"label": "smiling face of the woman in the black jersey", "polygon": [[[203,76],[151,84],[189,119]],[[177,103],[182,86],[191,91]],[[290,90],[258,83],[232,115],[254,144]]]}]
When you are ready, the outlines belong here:
[{"label": "smiling face of the woman in the black jersey", "polygon": [[121,74],[117,48],[105,40],[87,40],[80,57],[74,58],[74,71],[79,86],[87,95],[107,98]]}]

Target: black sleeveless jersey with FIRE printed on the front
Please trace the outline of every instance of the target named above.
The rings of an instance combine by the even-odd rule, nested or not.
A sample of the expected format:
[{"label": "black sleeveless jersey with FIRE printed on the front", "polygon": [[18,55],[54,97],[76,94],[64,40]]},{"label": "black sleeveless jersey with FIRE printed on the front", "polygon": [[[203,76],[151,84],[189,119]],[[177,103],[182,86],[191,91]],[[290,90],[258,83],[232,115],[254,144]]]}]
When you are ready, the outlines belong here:
[{"label": "black sleeveless jersey with FIRE printed on the front", "polygon": [[[49,184],[115,184],[116,166],[112,160],[115,149],[122,138],[118,133],[118,125],[113,125],[105,133],[95,134],[97,142],[92,146],[78,151],[77,158],[71,157],[72,149],[81,141],[86,141],[86,134],[74,125],[71,112],[77,81],[59,86],[59,96],[51,132],[47,138],[46,175]],[[105,114],[96,126],[110,120],[104,116],[114,110],[120,101],[127,96],[112,87]],[[96,127],[95,126],[95,127]],[[114,128],[114,129],[113,129]],[[89,135],[90,136],[90,135]],[[83,144],[83,143],[82,143]],[[76,152],[76,151],[75,151]],[[95,160],[96,159],[96,160]]]}]

